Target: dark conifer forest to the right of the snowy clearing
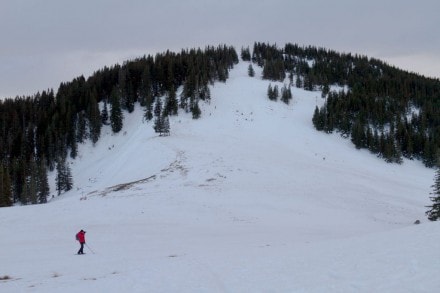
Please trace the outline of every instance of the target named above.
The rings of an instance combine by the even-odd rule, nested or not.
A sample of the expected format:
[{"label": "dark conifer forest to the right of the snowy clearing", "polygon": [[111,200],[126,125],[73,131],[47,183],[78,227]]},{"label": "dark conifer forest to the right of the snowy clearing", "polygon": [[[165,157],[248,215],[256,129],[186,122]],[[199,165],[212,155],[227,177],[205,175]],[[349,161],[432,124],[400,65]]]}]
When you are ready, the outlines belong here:
[{"label": "dark conifer forest to the right of the snowy clearing", "polygon": [[[242,56],[249,57],[247,50]],[[317,47],[255,43],[250,59],[263,78],[321,90],[317,130],[337,131],[357,148],[388,162],[420,159],[427,167],[440,155],[440,81],[397,69],[366,56]],[[330,91],[332,85],[345,90]]]}]

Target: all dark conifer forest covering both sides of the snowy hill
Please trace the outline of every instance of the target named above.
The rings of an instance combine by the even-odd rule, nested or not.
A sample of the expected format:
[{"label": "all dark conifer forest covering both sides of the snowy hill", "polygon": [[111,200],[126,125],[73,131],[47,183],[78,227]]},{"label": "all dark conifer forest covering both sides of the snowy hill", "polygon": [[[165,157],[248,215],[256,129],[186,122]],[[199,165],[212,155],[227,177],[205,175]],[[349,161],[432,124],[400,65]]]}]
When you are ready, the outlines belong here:
[{"label": "all dark conifer forest covering both sides of the snowy hill", "polygon": [[[239,56],[250,62],[250,77],[285,83],[285,103],[294,99],[290,87],[319,91],[325,103],[311,113],[316,130],[340,133],[389,163],[406,158],[436,166],[440,80],[313,46],[256,42],[240,55],[231,46],[208,46],[143,56],[63,82],[56,91],[0,100],[0,207],[47,202],[55,193],[48,184],[52,171],[56,194],[70,190],[75,178],[68,160],[76,158],[78,145],[95,144],[104,125],[120,132],[135,104],[159,135],[170,134],[169,116],[179,110],[198,119],[199,103],[211,99],[210,85],[226,82]],[[268,97],[276,100],[278,91],[269,85]]]}]

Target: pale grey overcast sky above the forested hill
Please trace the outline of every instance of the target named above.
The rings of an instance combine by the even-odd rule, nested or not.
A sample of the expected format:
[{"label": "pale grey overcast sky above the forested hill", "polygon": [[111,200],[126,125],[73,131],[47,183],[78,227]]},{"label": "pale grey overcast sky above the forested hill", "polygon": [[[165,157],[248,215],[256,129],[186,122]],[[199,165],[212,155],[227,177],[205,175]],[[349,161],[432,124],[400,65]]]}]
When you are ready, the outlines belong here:
[{"label": "pale grey overcast sky above the forested hill", "polygon": [[0,38],[0,97],[57,90],[144,54],[255,41],[440,77],[438,0],[0,0]]}]

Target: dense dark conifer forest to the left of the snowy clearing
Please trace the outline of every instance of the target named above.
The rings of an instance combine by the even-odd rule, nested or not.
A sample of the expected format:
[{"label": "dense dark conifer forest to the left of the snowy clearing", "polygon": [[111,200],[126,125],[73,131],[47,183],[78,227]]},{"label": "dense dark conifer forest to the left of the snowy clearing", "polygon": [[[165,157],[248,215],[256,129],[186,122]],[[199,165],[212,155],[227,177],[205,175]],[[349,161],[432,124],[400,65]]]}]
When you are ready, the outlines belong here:
[{"label": "dense dark conifer forest to the left of the snowy clearing", "polygon": [[155,119],[159,133],[178,109],[198,118],[199,101],[210,99],[209,85],[225,82],[236,63],[235,49],[224,45],[167,51],[61,83],[56,93],[49,89],[0,101],[0,207],[46,202],[48,171],[57,172],[58,194],[71,189],[66,159],[76,158],[78,144],[95,144],[103,125],[119,132],[123,113],[136,103],[146,120]]}]

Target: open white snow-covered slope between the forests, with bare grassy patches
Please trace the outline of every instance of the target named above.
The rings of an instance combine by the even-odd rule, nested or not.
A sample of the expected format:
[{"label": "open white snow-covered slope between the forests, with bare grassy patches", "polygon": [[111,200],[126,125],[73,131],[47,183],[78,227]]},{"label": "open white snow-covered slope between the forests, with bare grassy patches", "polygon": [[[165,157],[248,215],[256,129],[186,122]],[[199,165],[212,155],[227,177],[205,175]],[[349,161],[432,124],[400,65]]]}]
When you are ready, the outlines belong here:
[{"label": "open white snow-covered slope between the forests, with bare grassy patches", "polygon": [[[0,209],[0,292],[440,288],[433,170],[315,131],[319,92],[271,102],[247,68],[211,88],[201,119],[180,113],[158,137],[138,107],[80,147],[72,191]],[[76,255],[80,229],[94,253]]]}]

